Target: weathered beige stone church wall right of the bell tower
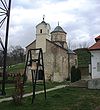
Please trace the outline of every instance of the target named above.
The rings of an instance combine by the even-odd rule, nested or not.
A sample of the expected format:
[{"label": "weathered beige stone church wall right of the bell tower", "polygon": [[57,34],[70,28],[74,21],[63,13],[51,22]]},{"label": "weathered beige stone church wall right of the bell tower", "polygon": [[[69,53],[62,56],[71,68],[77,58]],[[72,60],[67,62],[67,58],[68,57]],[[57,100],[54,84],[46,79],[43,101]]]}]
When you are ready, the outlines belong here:
[{"label": "weathered beige stone church wall right of the bell tower", "polygon": [[[53,81],[63,81],[68,77],[68,54],[67,50],[51,43],[47,40],[47,53],[45,54],[45,60],[49,59],[49,63],[46,61],[46,66],[50,79]],[[48,64],[47,64],[48,63]]]}]

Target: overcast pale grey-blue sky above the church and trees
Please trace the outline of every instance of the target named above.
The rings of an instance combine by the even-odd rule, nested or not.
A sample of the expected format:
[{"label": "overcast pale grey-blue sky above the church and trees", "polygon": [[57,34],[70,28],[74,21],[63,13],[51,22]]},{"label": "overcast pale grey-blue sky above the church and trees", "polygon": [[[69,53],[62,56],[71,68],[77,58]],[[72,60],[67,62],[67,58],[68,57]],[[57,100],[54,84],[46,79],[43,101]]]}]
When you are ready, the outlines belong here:
[{"label": "overcast pale grey-blue sky above the church and trees", "polygon": [[[51,31],[58,25],[67,32],[71,48],[92,45],[100,35],[100,0],[12,0],[9,46],[26,47],[35,38],[35,26],[45,15]],[[0,30],[3,37],[3,30]]]}]

